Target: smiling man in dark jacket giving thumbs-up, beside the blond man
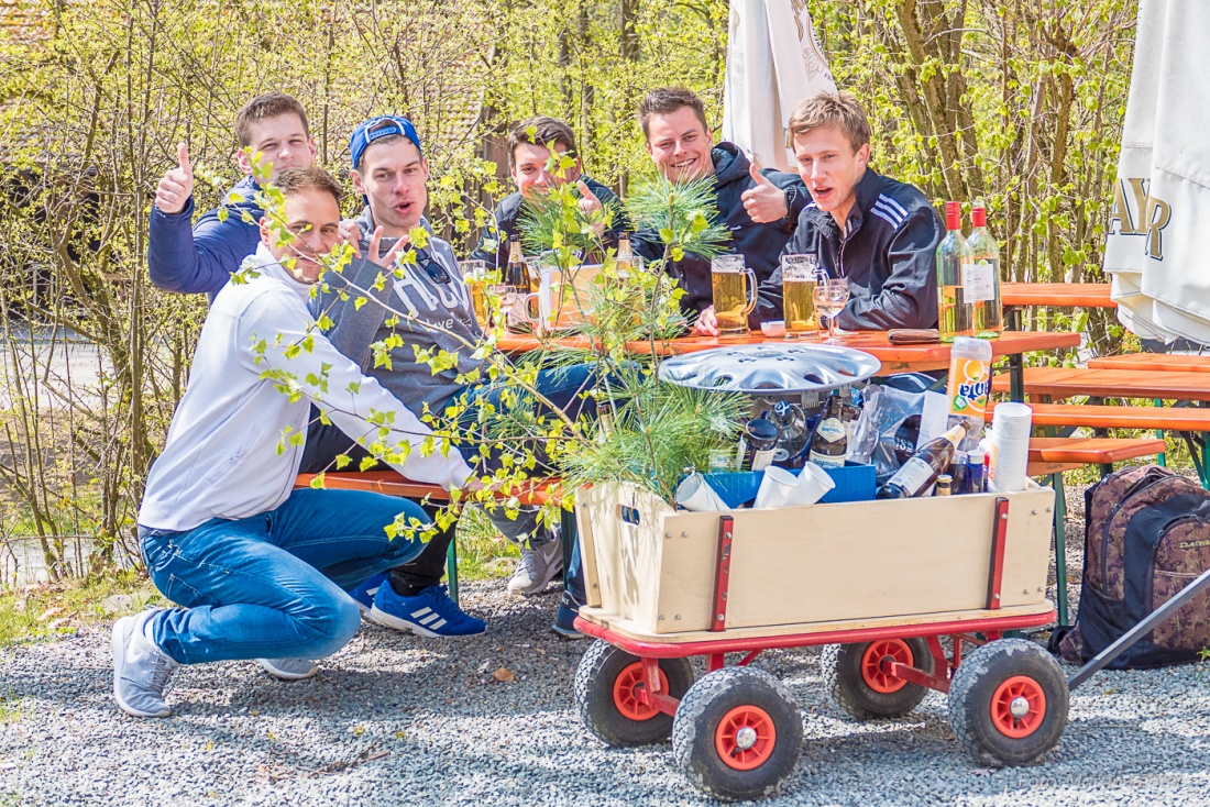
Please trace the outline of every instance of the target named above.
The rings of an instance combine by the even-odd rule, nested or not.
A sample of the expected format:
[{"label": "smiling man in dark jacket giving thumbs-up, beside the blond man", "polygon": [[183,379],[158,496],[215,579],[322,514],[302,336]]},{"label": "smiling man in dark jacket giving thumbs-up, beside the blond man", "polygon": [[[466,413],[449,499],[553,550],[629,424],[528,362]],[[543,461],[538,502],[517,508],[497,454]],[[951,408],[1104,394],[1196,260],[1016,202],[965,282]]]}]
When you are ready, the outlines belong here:
[{"label": "smiling man in dark jacket giving thumbs-up, beside the blond man", "polygon": [[[731,252],[747,258],[757,284],[768,279],[794,234],[799,213],[811,201],[802,180],[779,171],[757,171],[731,143],[714,145],[705,105],[688,90],[664,87],[649,92],[639,105],[639,125],[647,138],[647,154],[666,178],[674,181],[715,178],[718,220],[731,230]],[[664,246],[655,232],[636,234],[634,246],[647,260],[663,256]],[[718,335],[710,261],[687,254],[664,271],[680,277],[685,288],[681,307],[693,321],[695,330]],[[760,325],[756,311],[749,324]]]}]

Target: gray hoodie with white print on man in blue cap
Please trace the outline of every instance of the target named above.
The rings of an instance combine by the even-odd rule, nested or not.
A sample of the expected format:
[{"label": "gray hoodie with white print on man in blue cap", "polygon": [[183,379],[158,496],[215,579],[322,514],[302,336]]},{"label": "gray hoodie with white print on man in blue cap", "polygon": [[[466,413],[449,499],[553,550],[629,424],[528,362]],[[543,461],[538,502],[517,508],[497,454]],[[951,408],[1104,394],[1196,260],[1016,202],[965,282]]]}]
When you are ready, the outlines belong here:
[{"label": "gray hoodie with white print on man in blue cap", "polygon": [[[369,235],[374,230],[368,207],[358,217],[357,224],[362,230],[362,254],[367,255]],[[355,258],[345,270],[345,276],[352,278],[353,286],[368,292],[376,301],[371,300],[357,309],[356,300],[361,294],[348,293],[348,299],[341,300],[345,278],[329,273],[324,278],[328,290],[321,290],[311,302],[317,318],[327,312],[335,323],[328,339],[336,350],[378,379],[379,384],[416,415],[424,411],[425,404],[433,413],[444,411],[451,398],[465,390],[456,376],[484,363],[472,358],[471,350],[459,340],[461,338],[476,344],[483,332],[474,318],[471,292],[459,271],[454,249],[448,242],[432,235],[428,221],[421,220],[421,225],[428,230],[430,241],[425,249],[416,250],[417,264],[403,267],[403,279],[387,275],[386,286],[375,292],[374,281],[382,271],[379,266]],[[430,261],[434,264],[433,273],[440,275],[444,271],[448,282],[439,283],[425,271],[424,266]],[[385,324],[390,312],[380,302],[398,312],[394,327]],[[403,345],[391,351],[391,367],[369,367],[373,357],[370,344],[382,341],[391,334],[399,334],[403,339]],[[457,370],[450,368],[433,375],[428,364],[416,362],[415,347],[434,353],[443,350],[457,353]]]}]

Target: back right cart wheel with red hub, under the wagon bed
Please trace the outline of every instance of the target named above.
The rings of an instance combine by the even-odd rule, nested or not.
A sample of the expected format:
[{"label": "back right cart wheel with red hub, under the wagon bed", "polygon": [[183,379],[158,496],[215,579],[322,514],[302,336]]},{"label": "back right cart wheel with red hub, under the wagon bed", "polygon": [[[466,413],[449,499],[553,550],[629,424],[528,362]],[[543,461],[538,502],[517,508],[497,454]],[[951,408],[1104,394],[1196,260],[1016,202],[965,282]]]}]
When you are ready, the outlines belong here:
[{"label": "back right cart wheel with red hub, under the wagon bed", "polygon": [[819,668],[832,702],[860,720],[900,717],[918,707],[928,688],[882,671],[882,661],[888,657],[933,671],[933,653],[920,636],[824,647]]}]

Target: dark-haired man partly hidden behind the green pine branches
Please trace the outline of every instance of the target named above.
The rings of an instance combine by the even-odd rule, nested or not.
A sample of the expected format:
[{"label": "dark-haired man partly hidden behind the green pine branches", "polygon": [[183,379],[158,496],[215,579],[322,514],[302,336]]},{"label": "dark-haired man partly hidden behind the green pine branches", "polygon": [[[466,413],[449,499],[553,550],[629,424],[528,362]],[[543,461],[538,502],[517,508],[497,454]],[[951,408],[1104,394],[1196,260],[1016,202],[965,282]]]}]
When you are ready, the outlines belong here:
[{"label": "dark-haired man partly hidden behind the green pine branches", "polygon": [[[574,158],[575,165],[559,172],[549,165],[552,151],[560,157]],[[580,209],[586,214],[601,208],[613,212],[609,227],[600,234],[605,247],[616,247],[617,235],[629,227],[613,191],[582,173],[576,136],[570,126],[555,117],[531,117],[509,132],[508,171],[517,192],[500,200],[491,224],[484,229],[479,246],[471,253],[472,259],[488,261],[489,269],[502,269],[508,264],[508,236],[519,232],[518,219],[524,198],[553,185],[576,183],[581,195]]]}]

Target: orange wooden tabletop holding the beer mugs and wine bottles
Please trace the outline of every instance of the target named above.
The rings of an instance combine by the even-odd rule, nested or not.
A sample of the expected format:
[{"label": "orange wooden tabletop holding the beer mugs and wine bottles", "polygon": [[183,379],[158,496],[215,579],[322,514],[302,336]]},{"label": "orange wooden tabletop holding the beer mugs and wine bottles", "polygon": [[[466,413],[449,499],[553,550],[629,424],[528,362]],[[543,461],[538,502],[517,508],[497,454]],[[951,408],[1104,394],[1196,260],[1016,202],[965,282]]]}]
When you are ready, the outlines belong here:
[{"label": "orange wooden tabletop holding the beer mugs and wine bottles", "polygon": [[[1004,332],[991,342],[992,356],[1013,356],[1030,351],[1058,350],[1060,347],[1078,347],[1079,334],[1068,332],[1012,330]],[[507,334],[497,345],[506,352],[526,352],[541,350],[543,344],[559,347],[588,348],[583,338],[551,339],[543,342],[528,334]],[[656,342],[656,350],[668,353],[693,353],[711,347],[733,347],[736,345],[785,345],[784,339],[766,339],[762,334],[750,334],[719,339],[716,336],[682,336],[669,342]],[[802,342],[806,345],[819,342]],[[950,346],[940,342],[932,345],[892,345],[886,332],[863,330],[841,336],[834,342],[841,347],[865,351],[882,362],[882,373],[918,373],[922,370],[944,370],[950,367]],[[629,350],[635,354],[651,353],[650,342],[630,342]]]}]

